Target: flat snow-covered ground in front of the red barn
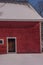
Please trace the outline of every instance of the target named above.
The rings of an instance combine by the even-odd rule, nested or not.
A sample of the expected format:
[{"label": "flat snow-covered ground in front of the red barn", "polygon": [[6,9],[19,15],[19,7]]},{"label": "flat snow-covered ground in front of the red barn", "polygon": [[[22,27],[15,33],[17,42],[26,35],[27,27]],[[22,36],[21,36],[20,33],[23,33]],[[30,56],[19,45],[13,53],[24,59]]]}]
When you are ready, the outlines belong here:
[{"label": "flat snow-covered ground in front of the red barn", "polygon": [[0,55],[0,65],[43,65],[43,53]]}]

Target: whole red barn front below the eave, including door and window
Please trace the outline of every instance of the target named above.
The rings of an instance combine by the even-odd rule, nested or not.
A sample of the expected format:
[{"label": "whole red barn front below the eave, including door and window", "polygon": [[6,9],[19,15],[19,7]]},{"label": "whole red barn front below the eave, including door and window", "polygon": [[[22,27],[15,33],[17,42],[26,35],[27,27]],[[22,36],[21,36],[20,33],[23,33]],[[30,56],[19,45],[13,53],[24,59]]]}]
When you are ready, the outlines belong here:
[{"label": "whole red barn front below the eave, including door and window", "polygon": [[0,21],[0,54],[39,53],[40,22]]}]

